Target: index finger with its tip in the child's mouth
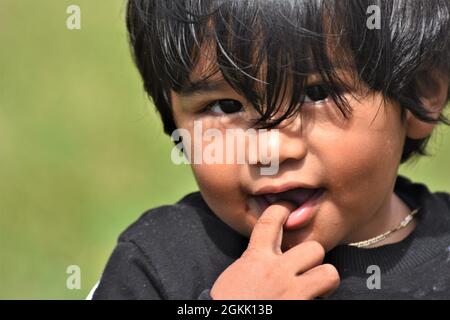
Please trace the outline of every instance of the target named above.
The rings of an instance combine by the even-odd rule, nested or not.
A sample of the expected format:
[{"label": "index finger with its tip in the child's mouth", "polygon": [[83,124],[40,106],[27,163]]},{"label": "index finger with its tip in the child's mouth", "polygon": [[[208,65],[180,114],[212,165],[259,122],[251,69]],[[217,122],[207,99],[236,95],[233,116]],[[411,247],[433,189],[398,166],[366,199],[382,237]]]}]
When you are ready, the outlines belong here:
[{"label": "index finger with its tip in the child's mouth", "polygon": [[283,225],[294,209],[294,205],[286,201],[269,206],[253,227],[248,247],[270,249],[273,252],[281,253]]}]

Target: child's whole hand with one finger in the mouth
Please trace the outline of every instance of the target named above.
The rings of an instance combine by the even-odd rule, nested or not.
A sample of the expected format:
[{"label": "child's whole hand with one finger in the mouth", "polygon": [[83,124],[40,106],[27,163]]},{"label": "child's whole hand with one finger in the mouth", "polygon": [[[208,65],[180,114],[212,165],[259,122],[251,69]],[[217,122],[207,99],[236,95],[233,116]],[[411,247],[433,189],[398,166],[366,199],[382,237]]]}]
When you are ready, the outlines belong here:
[{"label": "child's whole hand with one finger in the mouth", "polygon": [[325,250],[306,241],[281,251],[283,225],[293,205],[277,202],[255,224],[247,249],[211,288],[214,300],[297,300],[330,295],[339,286],[331,264],[321,264]]}]

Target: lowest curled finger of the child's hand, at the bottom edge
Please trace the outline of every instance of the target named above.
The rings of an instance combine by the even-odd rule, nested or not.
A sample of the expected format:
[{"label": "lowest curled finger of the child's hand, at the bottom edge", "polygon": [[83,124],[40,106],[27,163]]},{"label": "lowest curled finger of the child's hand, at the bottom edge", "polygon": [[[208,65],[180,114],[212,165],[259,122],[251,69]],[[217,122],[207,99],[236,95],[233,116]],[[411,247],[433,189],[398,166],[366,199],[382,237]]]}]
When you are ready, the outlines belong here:
[{"label": "lowest curled finger of the child's hand, at the bottom edge", "polygon": [[321,264],[298,277],[301,296],[306,299],[331,295],[340,284],[339,273],[331,264]]}]

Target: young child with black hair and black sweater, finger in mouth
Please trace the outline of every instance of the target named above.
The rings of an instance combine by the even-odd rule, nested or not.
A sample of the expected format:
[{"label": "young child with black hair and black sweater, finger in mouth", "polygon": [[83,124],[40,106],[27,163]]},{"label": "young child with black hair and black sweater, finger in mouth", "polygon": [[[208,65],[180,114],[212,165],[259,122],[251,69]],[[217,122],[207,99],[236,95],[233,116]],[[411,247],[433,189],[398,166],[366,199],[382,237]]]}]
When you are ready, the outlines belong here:
[{"label": "young child with black hair and black sweater, finger in mouth", "polygon": [[450,195],[397,173],[449,124],[448,0],[130,0],[127,26],[167,134],[277,130],[279,166],[192,163],[94,299],[450,298]]}]

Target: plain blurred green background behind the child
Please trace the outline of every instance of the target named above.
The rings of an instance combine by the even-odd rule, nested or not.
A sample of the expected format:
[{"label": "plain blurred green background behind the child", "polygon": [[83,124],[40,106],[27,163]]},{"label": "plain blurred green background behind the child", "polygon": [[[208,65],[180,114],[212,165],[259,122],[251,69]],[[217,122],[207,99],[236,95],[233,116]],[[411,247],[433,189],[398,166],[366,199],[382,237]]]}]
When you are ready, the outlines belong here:
[{"label": "plain blurred green background behind the child", "polygon": [[[81,30],[66,9],[81,8]],[[0,1],[0,299],[84,299],[117,236],[197,190],[130,58],[125,0]],[[450,191],[450,130],[401,168]],[[66,288],[69,265],[81,289]]]}]

